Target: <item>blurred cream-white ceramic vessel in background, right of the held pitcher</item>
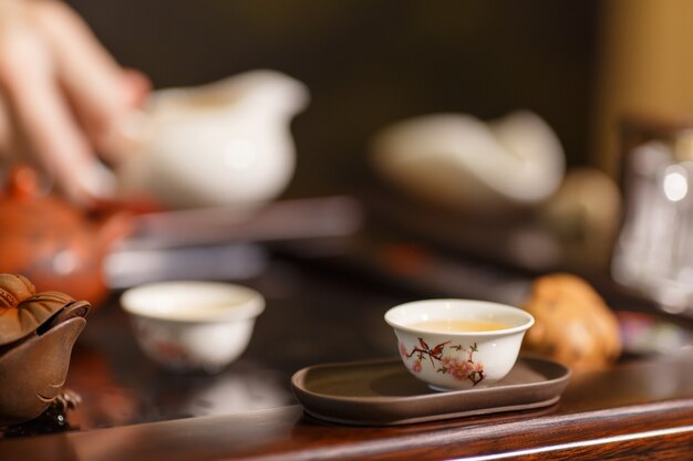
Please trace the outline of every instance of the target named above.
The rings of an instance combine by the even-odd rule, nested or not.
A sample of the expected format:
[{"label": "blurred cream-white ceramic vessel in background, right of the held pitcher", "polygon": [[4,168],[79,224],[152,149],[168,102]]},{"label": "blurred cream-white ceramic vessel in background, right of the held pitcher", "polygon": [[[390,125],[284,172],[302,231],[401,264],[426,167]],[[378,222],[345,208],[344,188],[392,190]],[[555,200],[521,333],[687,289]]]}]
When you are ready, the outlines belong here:
[{"label": "blurred cream-white ceramic vessel in background, right of the held pitcher", "polygon": [[485,212],[546,200],[560,185],[566,163],[558,136],[527,111],[490,123],[457,113],[401,121],[376,134],[372,160],[404,191]]}]

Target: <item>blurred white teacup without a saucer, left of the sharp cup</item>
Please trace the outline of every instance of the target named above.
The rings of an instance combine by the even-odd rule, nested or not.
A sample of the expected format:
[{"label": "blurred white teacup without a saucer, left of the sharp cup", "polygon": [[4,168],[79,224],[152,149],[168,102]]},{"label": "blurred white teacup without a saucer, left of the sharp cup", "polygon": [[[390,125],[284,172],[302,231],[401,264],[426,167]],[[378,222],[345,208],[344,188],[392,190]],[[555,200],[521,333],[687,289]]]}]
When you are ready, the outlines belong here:
[{"label": "blurred white teacup without a saucer, left of the sharp cup", "polygon": [[174,370],[216,373],[238,358],[265,310],[260,293],[220,282],[162,282],[123,293],[142,350]]}]

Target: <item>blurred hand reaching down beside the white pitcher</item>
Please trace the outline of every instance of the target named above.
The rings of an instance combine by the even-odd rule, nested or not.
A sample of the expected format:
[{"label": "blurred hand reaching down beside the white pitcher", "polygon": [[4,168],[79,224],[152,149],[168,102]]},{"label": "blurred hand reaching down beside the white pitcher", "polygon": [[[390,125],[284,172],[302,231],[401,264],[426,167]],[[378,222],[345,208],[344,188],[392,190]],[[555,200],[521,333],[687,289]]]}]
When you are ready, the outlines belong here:
[{"label": "blurred hand reaching down beside the white pitcher", "polygon": [[149,90],[83,20],[54,0],[0,0],[0,155],[37,161],[71,199],[113,189],[95,153],[114,156]]}]

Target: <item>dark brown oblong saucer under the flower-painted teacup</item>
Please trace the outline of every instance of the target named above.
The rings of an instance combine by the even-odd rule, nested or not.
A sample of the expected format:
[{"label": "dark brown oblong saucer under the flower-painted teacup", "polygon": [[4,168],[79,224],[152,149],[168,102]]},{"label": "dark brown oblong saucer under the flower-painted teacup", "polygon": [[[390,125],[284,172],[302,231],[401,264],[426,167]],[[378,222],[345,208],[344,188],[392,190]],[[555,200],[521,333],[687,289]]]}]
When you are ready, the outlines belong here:
[{"label": "dark brown oblong saucer under the flower-painted teacup", "polygon": [[391,426],[548,407],[560,399],[569,377],[556,362],[520,357],[499,383],[438,392],[392,358],[303,368],[291,386],[306,412],[319,419]]}]

